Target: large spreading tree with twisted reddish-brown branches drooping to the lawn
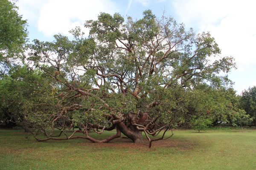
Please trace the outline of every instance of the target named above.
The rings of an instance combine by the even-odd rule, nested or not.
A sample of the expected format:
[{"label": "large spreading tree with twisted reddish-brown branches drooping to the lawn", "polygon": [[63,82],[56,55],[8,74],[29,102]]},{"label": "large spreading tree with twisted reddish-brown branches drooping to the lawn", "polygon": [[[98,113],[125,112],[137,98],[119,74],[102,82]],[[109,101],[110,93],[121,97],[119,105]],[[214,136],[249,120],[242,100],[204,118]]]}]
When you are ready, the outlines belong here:
[{"label": "large spreading tree with twisted reddish-brown branches drooping to the lawn", "polygon": [[[220,56],[209,33],[186,31],[173,18],[157,18],[150,10],[140,20],[101,13],[85,27],[89,37],[77,27],[70,31],[73,40],[58,34],[52,42],[34,40],[29,46],[28,61],[51,79],[47,102],[35,101],[23,119],[38,141],[110,142],[123,133],[143,142],[145,133],[151,146],[191,116],[193,89],[230,82],[220,73],[234,67],[233,58]],[[103,140],[88,133],[114,129],[116,134]],[[162,130],[159,138],[150,138]],[[37,137],[41,133],[45,139]]]}]

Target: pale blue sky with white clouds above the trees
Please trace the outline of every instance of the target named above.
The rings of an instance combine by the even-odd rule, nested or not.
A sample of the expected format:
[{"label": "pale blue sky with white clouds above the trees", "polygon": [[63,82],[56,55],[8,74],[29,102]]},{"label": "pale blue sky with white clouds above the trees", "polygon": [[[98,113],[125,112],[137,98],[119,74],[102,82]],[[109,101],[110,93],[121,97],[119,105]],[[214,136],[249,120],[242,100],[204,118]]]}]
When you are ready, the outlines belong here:
[{"label": "pale blue sky with white clouds above the trees", "polygon": [[[196,33],[209,31],[222,56],[235,58],[229,78],[237,94],[256,85],[255,0],[19,0],[19,14],[28,22],[29,40],[52,41],[54,34],[96,20],[100,12],[140,19],[151,9],[157,17],[173,17]],[[84,28],[85,34],[89,30]],[[71,37],[71,36],[70,36]]]}]

